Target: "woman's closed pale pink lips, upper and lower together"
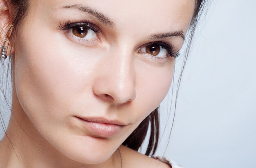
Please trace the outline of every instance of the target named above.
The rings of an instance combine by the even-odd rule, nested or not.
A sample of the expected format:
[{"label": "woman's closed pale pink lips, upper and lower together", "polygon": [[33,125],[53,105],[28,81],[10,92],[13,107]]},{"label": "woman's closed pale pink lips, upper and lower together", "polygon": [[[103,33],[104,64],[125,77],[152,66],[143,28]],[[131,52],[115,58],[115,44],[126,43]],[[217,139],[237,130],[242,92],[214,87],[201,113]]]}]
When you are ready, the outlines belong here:
[{"label": "woman's closed pale pink lips, upper and lower together", "polygon": [[83,118],[75,116],[83,122],[85,128],[99,137],[110,137],[117,134],[125,125],[118,120],[107,120],[106,118]]}]

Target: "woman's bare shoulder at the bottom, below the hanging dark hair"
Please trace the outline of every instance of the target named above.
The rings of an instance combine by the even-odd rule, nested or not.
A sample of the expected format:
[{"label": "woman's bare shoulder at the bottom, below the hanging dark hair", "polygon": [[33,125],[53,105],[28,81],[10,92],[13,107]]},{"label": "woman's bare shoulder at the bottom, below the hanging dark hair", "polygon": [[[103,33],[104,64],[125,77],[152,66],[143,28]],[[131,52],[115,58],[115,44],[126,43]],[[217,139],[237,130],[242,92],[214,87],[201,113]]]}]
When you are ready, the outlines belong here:
[{"label": "woman's bare shoulder at the bottom, below the hanging dark hair", "polygon": [[126,146],[121,146],[123,164],[127,168],[171,168],[171,166],[138,153]]}]

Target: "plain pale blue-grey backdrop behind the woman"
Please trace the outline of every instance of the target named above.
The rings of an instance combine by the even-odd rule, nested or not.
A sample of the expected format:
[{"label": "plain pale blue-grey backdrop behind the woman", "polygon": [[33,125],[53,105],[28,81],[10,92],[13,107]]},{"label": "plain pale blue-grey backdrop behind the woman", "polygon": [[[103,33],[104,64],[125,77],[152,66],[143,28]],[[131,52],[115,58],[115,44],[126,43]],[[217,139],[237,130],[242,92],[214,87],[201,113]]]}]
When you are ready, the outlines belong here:
[{"label": "plain pale blue-grey backdrop behind the woman", "polygon": [[186,64],[170,140],[171,91],[160,106],[166,130],[156,155],[169,144],[165,156],[184,168],[256,168],[255,17],[254,0],[212,0]]}]

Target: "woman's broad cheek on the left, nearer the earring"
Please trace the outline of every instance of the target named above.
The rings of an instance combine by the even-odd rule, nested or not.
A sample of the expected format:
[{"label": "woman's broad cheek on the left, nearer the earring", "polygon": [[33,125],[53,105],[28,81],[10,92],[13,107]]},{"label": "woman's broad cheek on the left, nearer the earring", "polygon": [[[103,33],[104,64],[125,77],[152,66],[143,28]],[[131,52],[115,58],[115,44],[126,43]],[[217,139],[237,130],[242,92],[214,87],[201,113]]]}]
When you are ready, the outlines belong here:
[{"label": "woman's broad cheek on the left, nearer the earring", "polygon": [[[27,25],[24,30],[33,26]],[[88,55],[88,51],[73,46],[68,48],[70,45],[65,42],[60,45],[63,41],[60,33],[52,33],[49,37],[47,30],[38,34],[33,31],[36,28],[30,29],[29,33],[22,29],[19,33],[14,79],[20,104],[27,115],[40,124],[39,118],[61,119],[60,114],[65,115],[73,101],[86,89],[85,86],[90,85],[88,79],[97,60],[92,54]]]}]

